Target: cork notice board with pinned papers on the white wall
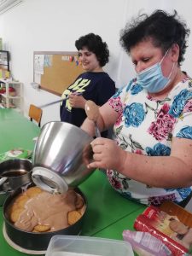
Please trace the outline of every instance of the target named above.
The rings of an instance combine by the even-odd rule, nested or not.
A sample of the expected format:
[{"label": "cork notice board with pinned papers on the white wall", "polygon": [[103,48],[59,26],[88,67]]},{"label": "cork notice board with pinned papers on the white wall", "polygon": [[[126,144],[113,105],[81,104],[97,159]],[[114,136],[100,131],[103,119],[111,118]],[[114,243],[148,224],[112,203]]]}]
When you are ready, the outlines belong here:
[{"label": "cork notice board with pinned papers on the white wall", "polygon": [[78,52],[35,51],[33,55],[33,81],[40,89],[57,96],[84,72],[79,65]]}]

